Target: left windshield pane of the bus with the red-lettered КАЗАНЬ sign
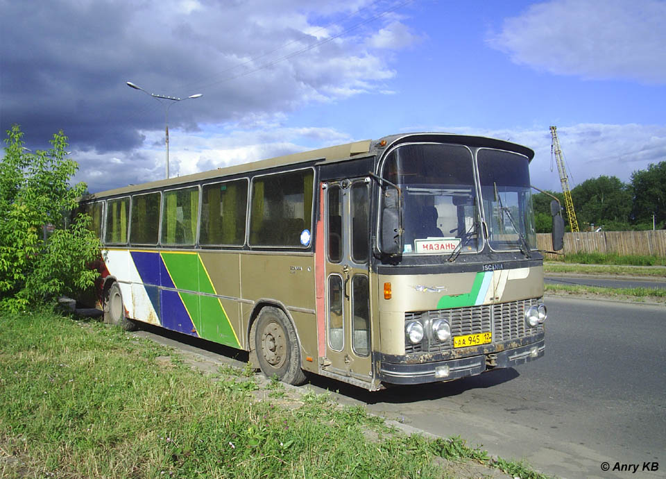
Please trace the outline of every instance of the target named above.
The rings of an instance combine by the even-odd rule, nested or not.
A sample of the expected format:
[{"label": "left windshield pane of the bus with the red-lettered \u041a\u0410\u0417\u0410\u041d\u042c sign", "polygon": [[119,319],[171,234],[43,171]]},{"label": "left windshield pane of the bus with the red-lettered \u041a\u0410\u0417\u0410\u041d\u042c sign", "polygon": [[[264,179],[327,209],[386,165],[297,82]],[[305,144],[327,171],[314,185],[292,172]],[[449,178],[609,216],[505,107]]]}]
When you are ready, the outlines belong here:
[{"label": "left windshield pane of the bus with the red-lettered \u041a\u0410\u0417\u0410\u041d\u042c sign", "polygon": [[479,201],[468,147],[398,146],[388,154],[383,176],[402,190],[404,254],[481,249]]}]

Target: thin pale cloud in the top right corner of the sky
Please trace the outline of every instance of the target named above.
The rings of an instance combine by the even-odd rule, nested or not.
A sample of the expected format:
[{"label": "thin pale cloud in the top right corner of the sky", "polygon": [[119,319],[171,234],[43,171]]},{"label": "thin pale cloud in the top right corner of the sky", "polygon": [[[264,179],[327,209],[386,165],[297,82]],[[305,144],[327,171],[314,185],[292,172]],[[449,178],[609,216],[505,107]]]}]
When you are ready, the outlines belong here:
[{"label": "thin pale cloud in the top right corner of the sky", "polygon": [[665,25],[661,0],[552,0],[505,19],[487,41],[539,71],[664,84]]}]

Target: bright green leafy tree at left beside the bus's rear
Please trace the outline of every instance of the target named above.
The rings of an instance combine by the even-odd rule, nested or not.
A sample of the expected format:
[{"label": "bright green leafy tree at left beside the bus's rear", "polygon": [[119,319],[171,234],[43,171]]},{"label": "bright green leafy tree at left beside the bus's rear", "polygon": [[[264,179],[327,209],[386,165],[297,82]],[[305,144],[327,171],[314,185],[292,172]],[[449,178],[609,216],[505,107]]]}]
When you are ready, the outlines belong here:
[{"label": "bright green leafy tree at left beside the bus's rear", "polygon": [[[0,307],[26,310],[44,299],[92,286],[101,245],[89,217],[67,224],[84,183],[69,181],[78,165],[67,158],[67,137],[53,135],[49,151],[24,148],[19,126],[7,131],[0,162]],[[46,227],[53,228],[46,238]]]}]

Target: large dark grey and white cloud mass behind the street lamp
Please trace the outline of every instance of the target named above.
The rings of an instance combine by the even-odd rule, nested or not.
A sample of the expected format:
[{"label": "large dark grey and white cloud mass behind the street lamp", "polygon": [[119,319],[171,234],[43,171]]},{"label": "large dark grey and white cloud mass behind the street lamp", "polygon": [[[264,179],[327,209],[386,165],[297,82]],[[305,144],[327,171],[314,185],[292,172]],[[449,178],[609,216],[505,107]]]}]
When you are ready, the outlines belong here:
[{"label": "large dark grey and white cloud mass behind the street lamp", "polygon": [[382,5],[53,0],[35,10],[0,0],[0,128],[21,124],[26,140],[44,143],[62,129],[79,151],[117,155],[163,130],[169,103],[126,81],[169,96],[203,93],[169,109],[169,127],[184,131],[382,92],[395,75],[391,56],[368,39],[382,28],[402,32],[402,44],[409,37],[395,17],[377,17]]}]

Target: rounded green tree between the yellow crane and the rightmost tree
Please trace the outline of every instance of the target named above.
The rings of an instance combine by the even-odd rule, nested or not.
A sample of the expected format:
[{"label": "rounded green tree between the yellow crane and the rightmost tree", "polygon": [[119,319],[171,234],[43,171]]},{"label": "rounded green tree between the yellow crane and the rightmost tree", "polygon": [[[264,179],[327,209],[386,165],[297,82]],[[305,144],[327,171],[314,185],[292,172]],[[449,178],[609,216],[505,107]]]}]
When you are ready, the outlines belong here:
[{"label": "rounded green tree between the yellow crane and the rightmost tree", "polygon": [[580,223],[602,226],[613,224],[613,229],[629,229],[631,190],[617,176],[590,178],[571,192],[576,217]]}]

